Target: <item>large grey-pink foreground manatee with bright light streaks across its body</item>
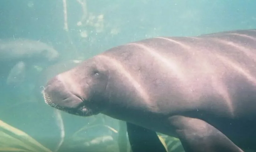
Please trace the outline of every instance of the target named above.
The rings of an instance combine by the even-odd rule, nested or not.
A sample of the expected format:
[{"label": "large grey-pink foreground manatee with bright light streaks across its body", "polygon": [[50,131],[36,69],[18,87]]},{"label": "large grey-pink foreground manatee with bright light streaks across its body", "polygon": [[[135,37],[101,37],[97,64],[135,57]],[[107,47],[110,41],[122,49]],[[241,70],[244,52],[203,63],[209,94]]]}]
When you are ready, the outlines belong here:
[{"label": "large grey-pink foreground manatee with bright light streaks across its body", "polygon": [[71,114],[178,137],[186,152],[256,150],[255,65],[256,30],[145,39],[53,77],[44,98]]}]

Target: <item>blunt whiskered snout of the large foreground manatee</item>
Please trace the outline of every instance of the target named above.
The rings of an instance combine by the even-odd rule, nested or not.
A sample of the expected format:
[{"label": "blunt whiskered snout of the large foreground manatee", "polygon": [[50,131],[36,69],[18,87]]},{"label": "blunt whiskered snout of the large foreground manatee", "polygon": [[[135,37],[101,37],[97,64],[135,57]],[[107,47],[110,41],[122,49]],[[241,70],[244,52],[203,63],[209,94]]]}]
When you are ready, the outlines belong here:
[{"label": "blunt whiskered snout of the large foreground manatee", "polygon": [[70,84],[63,81],[62,75],[57,75],[48,81],[43,96],[45,103],[53,108],[79,116],[89,115],[83,99],[74,92]]}]

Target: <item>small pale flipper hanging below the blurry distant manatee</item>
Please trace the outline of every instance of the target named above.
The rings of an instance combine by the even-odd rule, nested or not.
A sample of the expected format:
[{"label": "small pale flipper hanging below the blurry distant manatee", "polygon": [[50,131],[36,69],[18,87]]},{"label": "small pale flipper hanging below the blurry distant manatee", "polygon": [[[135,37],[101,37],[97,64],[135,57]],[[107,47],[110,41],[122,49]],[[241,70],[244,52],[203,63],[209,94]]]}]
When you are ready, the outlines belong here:
[{"label": "small pale flipper hanging below the blurry distant manatee", "polygon": [[16,86],[25,79],[25,63],[23,61],[18,62],[10,71],[6,83],[7,85]]}]

